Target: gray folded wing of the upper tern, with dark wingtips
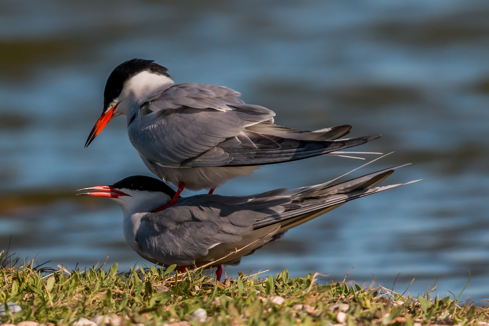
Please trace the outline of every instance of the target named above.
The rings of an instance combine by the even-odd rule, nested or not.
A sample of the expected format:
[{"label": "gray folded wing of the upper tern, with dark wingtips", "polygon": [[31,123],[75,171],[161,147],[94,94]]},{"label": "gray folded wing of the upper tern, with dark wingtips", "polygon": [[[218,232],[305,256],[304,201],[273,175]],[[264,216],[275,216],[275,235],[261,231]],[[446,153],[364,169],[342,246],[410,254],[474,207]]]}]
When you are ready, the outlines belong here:
[{"label": "gray folded wing of the upper tern, with dark wingtips", "polygon": [[327,141],[350,126],[304,131],[275,126],[275,113],[230,88],[178,84],[143,104],[128,125],[142,157],[164,167],[272,164],[357,146],[380,135]]}]

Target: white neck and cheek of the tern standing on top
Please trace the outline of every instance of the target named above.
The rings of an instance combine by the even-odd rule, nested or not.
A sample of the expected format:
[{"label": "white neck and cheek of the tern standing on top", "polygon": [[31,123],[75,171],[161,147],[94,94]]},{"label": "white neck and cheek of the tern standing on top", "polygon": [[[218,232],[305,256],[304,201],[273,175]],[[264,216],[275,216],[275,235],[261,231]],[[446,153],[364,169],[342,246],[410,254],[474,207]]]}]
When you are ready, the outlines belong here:
[{"label": "white neck and cheek of the tern standing on top", "polygon": [[133,115],[133,111],[155,96],[160,90],[168,88],[174,84],[174,81],[167,76],[142,71],[131,77],[122,89],[117,106],[119,114],[125,114],[128,117]]}]

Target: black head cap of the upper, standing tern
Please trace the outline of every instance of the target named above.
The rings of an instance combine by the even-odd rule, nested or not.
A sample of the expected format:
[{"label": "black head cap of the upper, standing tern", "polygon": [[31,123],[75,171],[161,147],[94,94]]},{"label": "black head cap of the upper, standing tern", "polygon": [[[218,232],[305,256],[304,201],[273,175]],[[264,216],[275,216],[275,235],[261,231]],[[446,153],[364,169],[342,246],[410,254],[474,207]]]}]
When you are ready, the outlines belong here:
[{"label": "black head cap of the upper, standing tern", "polygon": [[112,70],[104,89],[104,112],[109,109],[107,106],[114,98],[120,95],[124,83],[141,71],[151,71],[166,77],[171,77],[168,69],[155,63],[155,60],[131,59],[116,66]]}]

